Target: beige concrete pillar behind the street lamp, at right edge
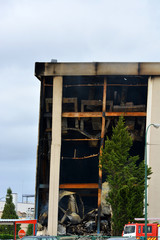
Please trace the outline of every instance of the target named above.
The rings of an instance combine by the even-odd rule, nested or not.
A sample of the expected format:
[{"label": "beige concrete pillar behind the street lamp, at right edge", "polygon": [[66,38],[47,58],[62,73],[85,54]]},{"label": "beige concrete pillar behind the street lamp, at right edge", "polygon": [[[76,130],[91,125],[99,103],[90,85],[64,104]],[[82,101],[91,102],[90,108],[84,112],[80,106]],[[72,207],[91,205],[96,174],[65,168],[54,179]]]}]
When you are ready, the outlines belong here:
[{"label": "beige concrete pillar behind the street lamp, at right edge", "polygon": [[[160,124],[160,77],[148,80],[147,121]],[[148,181],[148,218],[160,217],[160,128],[151,126],[147,134],[147,162],[153,174]]]}]

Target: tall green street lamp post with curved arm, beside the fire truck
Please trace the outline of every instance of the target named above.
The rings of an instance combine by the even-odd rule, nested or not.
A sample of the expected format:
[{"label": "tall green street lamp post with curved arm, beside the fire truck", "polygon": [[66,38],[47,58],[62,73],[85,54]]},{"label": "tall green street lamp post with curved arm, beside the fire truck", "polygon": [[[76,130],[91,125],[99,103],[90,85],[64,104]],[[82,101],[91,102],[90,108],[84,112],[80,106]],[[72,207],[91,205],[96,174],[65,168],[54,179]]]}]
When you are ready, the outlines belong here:
[{"label": "tall green street lamp post with curved arm, beside the fire truck", "polygon": [[145,133],[145,240],[147,240],[147,133],[151,126],[159,128],[160,124],[149,124]]}]

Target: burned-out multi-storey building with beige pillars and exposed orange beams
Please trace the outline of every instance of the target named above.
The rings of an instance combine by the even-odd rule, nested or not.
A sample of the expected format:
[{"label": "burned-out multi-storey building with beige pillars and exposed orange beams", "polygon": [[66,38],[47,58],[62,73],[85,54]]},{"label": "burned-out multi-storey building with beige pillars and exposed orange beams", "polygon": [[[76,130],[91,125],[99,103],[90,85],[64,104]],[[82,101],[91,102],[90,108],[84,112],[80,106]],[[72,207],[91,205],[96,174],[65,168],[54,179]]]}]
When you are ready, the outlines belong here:
[{"label": "burned-out multi-storey building with beige pillars and exposed orange beams", "polygon": [[[83,210],[79,210],[81,219],[98,208],[100,228],[105,181],[99,168],[101,146],[123,115],[133,137],[131,154],[144,159],[146,125],[160,119],[159,109],[155,108],[160,101],[160,64],[36,63],[35,75],[41,81],[36,218],[48,210],[46,225],[49,233],[56,235],[58,216],[62,222],[66,214],[66,207],[63,209],[58,203],[59,192],[65,190],[71,196],[73,193],[79,196],[79,206],[83,205]],[[158,146],[157,134],[151,129],[148,137]],[[160,165],[156,154],[159,150],[149,149],[148,162],[154,172]],[[153,175],[149,188],[150,215],[155,207],[150,196],[156,194],[160,198],[153,187],[158,174]]]}]

